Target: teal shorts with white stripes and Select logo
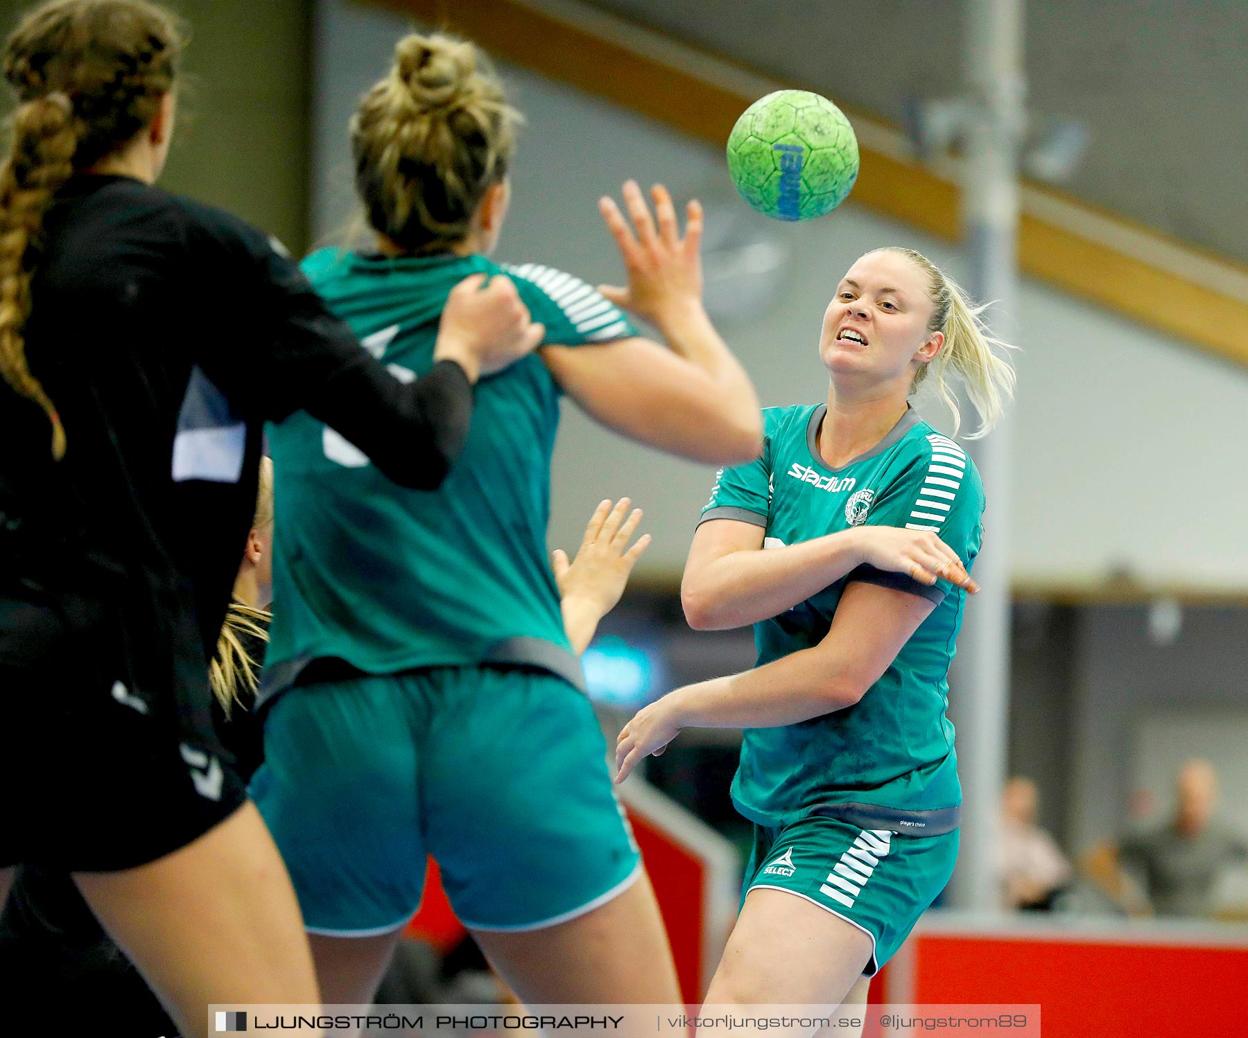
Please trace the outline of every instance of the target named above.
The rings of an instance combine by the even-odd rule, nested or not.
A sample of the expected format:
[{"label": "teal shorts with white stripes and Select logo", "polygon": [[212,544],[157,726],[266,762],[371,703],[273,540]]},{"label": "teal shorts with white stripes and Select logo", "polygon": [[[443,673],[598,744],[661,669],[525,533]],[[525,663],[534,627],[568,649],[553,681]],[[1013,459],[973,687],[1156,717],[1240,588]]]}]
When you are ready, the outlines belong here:
[{"label": "teal shorts with white stripes and Select logo", "polygon": [[910,836],[817,816],[755,825],[741,897],[787,891],[840,916],[871,938],[862,976],[874,977],[945,890],[956,860],[957,830]]}]

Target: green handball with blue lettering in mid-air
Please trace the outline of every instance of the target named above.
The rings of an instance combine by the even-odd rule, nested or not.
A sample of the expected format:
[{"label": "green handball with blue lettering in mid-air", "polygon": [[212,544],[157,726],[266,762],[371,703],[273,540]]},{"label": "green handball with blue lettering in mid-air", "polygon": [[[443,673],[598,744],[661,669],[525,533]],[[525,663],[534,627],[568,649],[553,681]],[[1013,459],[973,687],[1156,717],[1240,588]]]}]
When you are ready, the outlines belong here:
[{"label": "green handball with blue lettering in mid-air", "polygon": [[857,180],[857,137],[844,112],[805,90],[760,97],[728,138],[728,171],[754,208],[776,220],[831,212]]}]

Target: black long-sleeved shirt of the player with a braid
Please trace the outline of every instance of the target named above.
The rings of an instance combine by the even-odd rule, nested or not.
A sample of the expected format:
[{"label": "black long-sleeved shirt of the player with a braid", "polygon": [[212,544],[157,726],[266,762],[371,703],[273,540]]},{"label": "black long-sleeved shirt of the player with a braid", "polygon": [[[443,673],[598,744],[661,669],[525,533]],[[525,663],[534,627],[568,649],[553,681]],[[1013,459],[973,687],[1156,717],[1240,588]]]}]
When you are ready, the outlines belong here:
[{"label": "black long-sleeved shirt of the player with a braid", "polygon": [[[14,603],[89,585],[89,601],[124,619],[116,639],[134,644],[119,651],[158,656],[190,640],[206,667],[266,420],[307,409],[422,489],[467,435],[472,390],[457,364],[399,383],[281,246],[129,177],[80,176],[57,195],[31,303],[26,356],[67,452],[52,460],[42,410],[0,381],[0,666],[35,662]],[[151,699],[168,682],[152,671],[134,691]]]}]

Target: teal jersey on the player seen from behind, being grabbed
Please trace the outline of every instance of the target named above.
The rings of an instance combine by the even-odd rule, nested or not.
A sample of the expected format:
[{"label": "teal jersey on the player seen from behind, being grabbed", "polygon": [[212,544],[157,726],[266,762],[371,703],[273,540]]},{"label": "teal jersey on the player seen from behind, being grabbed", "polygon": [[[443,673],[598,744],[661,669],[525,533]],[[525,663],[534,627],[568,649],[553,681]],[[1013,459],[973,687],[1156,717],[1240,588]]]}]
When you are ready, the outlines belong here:
[{"label": "teal jersey on the player seen from behind, being grabbed", "polygon": [[[505,273],[545,342],[636,334],[594,288],[549,267],[482,256],[323,250],[312,284],[401,379],[433,366],[438,319],[464,277]],[[437,490],[408,490],[306,412],[270,429],[277,533],[263,697],[314,660],[366,674],[483,662],[580,684],[547,559],[559,389],[537,356],[482,378],[463,454]]]}]

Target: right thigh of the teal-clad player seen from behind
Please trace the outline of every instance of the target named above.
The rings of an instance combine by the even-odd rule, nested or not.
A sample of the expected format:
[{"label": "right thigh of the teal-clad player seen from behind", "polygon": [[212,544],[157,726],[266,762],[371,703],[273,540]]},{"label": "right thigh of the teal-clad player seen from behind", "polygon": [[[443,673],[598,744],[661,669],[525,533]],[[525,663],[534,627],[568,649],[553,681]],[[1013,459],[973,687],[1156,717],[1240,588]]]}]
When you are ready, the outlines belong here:
[{"label": "right thigh of the teal-clad player seen from behind", "polygon": [[680,1001],[663,919],[644,875],[568,922],[520,932],[478,929],[473,937],[529,1004]]}]

